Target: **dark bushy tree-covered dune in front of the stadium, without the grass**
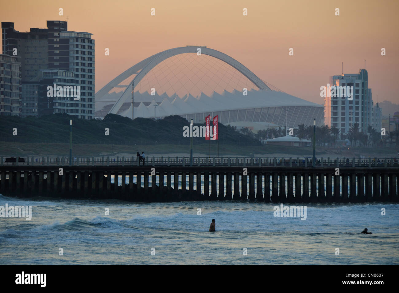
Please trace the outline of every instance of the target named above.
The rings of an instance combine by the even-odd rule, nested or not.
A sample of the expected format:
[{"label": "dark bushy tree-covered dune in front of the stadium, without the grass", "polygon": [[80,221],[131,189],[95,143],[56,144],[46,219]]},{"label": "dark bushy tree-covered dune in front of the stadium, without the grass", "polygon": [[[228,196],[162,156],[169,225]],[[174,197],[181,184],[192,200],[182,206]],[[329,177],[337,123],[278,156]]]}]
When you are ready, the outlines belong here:
[{"label": "dark bushy tree-covered dune in front of the stadium, without the grass", "polygon": [[[108,114],[104,120],[76,119],[67,114],[47,115],[40,118],[0,116],[2,126],[0,142],[68,143],[70,119],[73,119],[73,144],[190,144],[190,139],[183,137],[183,126],[190,124],[180,116],[168,116],[156,121],[136,118],[132,121],[115,114]],[[17,136],[12,135],[13,128],[17,128]],[[105,136],[105,128],[109,128],[109,136]],[[221,123],[219,123],[219,134],[219,145],[260,145],[255,138],[240,134],[234,128],[226,127]],[[203,143],[204,140],[205,138],[194,138],[194,144]]]}]

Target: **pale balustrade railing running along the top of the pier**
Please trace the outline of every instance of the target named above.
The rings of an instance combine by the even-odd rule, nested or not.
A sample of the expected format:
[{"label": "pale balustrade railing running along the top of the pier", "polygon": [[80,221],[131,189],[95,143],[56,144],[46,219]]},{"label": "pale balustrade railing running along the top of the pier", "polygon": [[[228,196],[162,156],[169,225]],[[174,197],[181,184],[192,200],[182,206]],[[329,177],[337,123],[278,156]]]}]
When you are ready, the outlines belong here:
[{"label": "pale balustrade railing running along the top of the pier", "polygon": [[[18,158],[18,159],[17,159]],[[32,156],[0,158],[1,165],[69,165],[69,157]],[[137,157],[73,157],[71,165],[91,166],[133,166],[142,165]],[[145,157],[145,165],[152,166],[190,166],[190,157]],[[259,167],[311,167],[309,157],[194,157],[193,166],[259,166]],[[396,158],[316,158],[316,167],[399,167]]]}]

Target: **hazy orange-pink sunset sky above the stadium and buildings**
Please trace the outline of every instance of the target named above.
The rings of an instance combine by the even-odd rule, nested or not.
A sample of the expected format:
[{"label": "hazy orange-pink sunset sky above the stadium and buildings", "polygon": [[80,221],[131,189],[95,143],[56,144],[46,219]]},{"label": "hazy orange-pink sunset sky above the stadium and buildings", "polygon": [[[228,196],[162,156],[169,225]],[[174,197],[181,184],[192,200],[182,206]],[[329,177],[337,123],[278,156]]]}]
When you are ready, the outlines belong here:
[{"label": "hazy orange-pink sunset sky above the stadium and buildings", "polygon": [[320,87],[342,73],[342,62],[344,73],[365,67],[373,100],[378,95],[399,104],[395,0],[0,0],[0,6],[0,20],[20,32],[68,18],[68,30],[92,33],[96,92],[143,59],[190,44],[221,51],[269,84],[317,104],[324,103]]}]

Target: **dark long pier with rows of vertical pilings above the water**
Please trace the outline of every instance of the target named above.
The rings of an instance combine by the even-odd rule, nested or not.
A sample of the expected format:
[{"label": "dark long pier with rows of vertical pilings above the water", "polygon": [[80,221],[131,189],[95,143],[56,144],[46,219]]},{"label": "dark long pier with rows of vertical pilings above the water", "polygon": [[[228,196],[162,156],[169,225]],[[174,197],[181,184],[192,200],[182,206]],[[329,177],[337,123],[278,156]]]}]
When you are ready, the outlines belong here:
[{"label": "dark long pier with rows of vertical pilings above the water", "polygon": [[275,166],[275,163],[272,166],[234,166],[231,163],[219,166],[0,165],[0,193],[18,197],[121,199],[141,202],[398,201],[399,167],[393,161],[384,162],[388,167],[369,167],[369,161],[364,167],[354,167],[355,161],[344,161],[344,166],[339,167],[311,167],[301,166],[298,161],[297,164],[293,161],[294,159],[290,159],[288,166],[284,164],[284,160],[279,166]]}]

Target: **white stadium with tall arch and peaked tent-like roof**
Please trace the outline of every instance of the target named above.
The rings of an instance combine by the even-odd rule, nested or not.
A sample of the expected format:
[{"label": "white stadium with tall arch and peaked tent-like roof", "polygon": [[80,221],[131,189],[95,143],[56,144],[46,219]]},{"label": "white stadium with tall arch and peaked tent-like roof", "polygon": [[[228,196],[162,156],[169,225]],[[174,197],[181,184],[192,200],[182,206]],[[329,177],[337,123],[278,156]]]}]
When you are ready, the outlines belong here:
[{"label": "white stadium with tall arch and peaked tent-like roof", "polygon": [[312,125],[313,119],[320,124],[324,114],[322,105],[274,88],[206,46],[173,48],[142,60],[95,94],[95,109],[99,118],[109,113],[154,119],[179,115],[194,123],[219,115],[222,124],[255,131]]}]

